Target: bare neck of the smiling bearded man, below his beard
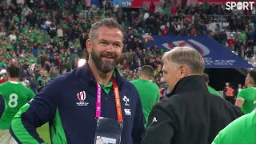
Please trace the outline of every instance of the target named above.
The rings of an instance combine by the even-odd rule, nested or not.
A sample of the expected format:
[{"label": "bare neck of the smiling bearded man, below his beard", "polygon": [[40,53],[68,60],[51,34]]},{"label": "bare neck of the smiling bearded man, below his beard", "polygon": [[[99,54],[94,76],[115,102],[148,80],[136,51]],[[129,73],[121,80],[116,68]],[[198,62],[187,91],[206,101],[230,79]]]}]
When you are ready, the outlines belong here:
[{"label": "bare neck of the smiling bearded man, below his beard", "polygon": [[98,68],[95,66],[94,62],[89,58],[88,65],[90,66],[91,72],[94,74],[95,80],[106,86],[110,83],[110,78],[112,77],[113,71],[110,71],[109,73],[102,73]]}]

